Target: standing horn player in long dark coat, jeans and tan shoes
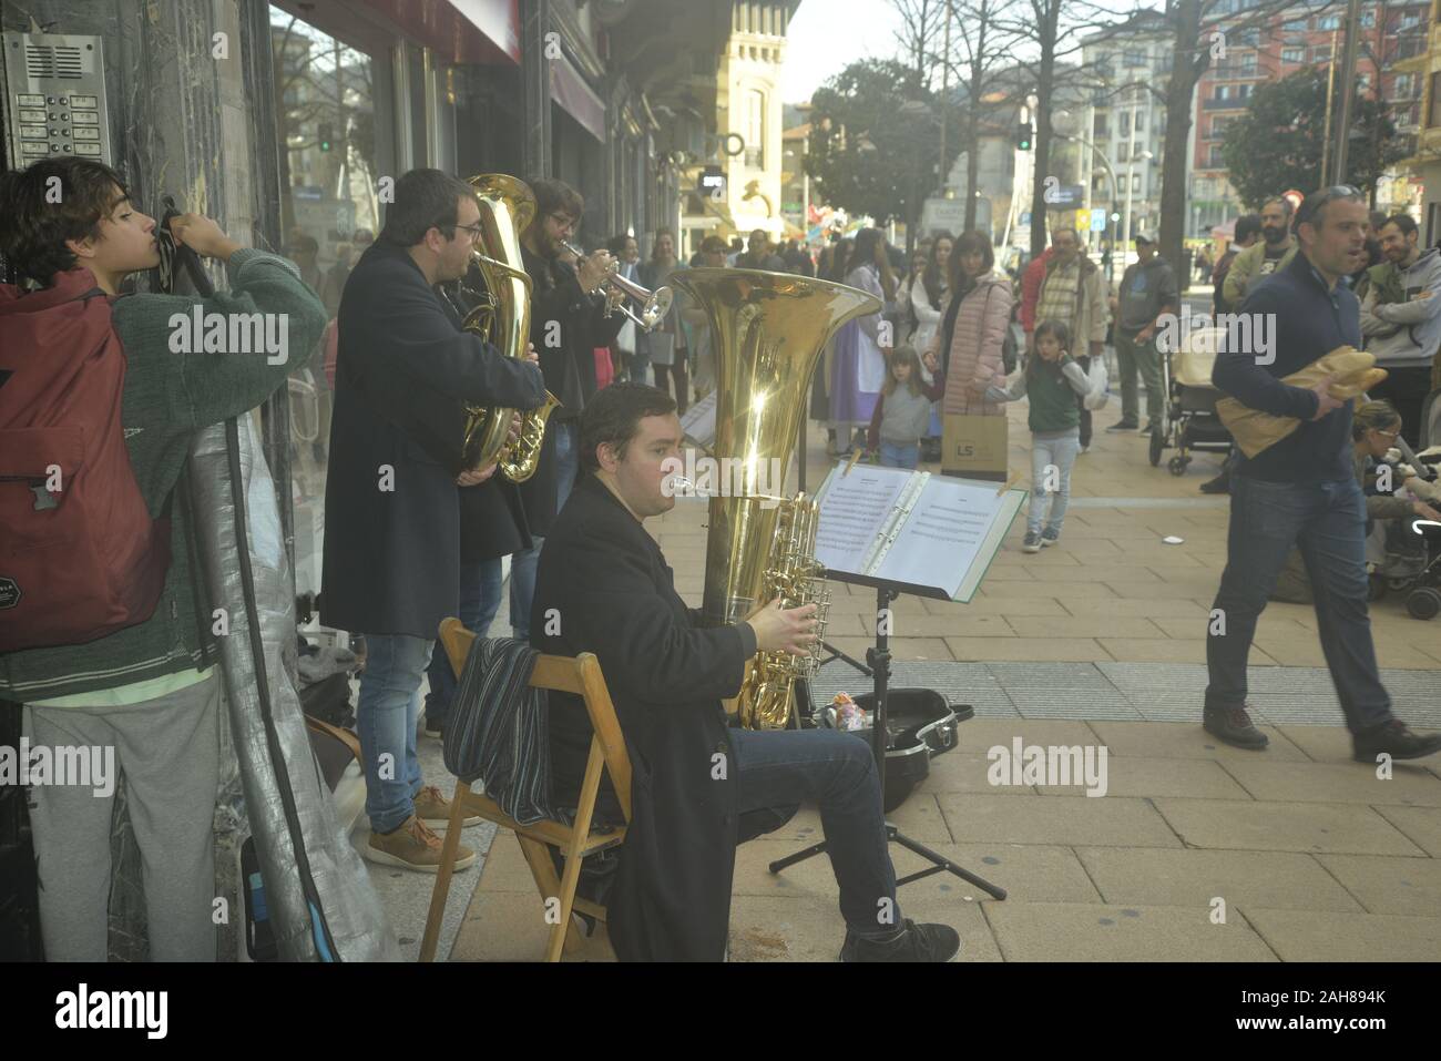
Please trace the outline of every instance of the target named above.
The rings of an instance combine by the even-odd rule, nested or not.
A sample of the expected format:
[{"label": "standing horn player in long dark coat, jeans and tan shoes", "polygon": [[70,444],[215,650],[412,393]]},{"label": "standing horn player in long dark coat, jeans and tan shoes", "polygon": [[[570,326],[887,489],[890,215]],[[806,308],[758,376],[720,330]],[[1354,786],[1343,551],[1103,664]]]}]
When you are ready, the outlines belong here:
[{"label": "standing horn player in long dark coat, jeans and tan shoes", "polygon": [[[496,470],[457,477],[447,450],[460,447],[461,402],[545,402],[539,368],[461,332],[435,291],[465,274],[478,222],[463,180],[402,176],[339,316],[320,620],[369,646],[356,708],[366,858],[421,872],[435,872],[441,852],[427,822],[450,814],[440,790],[422,786],[415,754],[421,678],[440,621],[460,610],[460,489]],[[474,858],[461,848],[455,865]]]}]

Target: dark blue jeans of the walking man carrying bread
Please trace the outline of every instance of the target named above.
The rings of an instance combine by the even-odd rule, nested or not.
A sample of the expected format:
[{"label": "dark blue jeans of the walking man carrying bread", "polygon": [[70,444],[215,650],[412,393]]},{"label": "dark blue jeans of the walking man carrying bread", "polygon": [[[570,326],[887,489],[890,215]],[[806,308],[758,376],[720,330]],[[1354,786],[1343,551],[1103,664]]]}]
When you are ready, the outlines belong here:
[{"label": "dark blue jeans of the walking man carrying bread", "polygon": [[[1226,569],[1208,620],[1206,708],[1239,708],[1246,699],[1246,656],[1257,618],[1295,545],[1306,561],[1321,652],[1352,732],[1391,719],[1366,611],[1366,499],[1356,480],[1265,483],[1231,477]],[[1212,613],[1215,616],[1215,613]],[[1225,633],[1219,620],[1225,620]]]}]

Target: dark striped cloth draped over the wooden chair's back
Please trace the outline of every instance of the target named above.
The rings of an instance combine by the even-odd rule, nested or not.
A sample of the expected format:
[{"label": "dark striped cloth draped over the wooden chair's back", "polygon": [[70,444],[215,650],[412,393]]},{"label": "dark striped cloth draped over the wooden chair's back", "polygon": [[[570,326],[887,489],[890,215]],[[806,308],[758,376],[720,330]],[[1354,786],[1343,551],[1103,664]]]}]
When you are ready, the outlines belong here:
[{"label": "dark striped cloth draped over the wooden chair's back", "polygon": [[486,794],[520,825],[553,819],[549,705],[532,689],[539,652],[509,637],[477,637],[445,727],[445,768]]}]

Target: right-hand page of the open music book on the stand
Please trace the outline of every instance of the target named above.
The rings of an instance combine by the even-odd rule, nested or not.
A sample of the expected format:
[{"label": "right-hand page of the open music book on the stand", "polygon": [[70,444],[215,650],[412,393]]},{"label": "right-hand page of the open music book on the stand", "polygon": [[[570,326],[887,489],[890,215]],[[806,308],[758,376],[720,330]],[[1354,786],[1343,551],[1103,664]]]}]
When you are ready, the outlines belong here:
[{"label": "right-hand page of the open music book on the stand", "polygon": [[931,476],[875,575],[954,598],[1004,500],[994,487]]}]

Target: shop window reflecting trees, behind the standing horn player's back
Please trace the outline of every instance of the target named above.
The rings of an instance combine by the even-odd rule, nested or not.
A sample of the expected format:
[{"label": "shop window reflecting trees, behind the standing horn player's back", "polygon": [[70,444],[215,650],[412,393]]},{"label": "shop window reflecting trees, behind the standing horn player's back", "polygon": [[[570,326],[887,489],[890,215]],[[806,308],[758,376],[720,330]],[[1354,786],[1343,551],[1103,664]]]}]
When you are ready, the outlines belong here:
[{"label": "shop window reflecting trees, behind the standing horn player's back", "polygon": [[[277,86],[281,231],[277,248],[334,317],[353,259],[380,226],[376,94],[369,55],[269,9]],[[295,591],[320,591],[331,388],[324,346],[291,352],[290,469]]]}]

